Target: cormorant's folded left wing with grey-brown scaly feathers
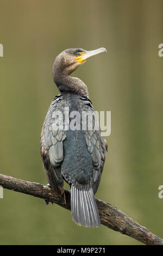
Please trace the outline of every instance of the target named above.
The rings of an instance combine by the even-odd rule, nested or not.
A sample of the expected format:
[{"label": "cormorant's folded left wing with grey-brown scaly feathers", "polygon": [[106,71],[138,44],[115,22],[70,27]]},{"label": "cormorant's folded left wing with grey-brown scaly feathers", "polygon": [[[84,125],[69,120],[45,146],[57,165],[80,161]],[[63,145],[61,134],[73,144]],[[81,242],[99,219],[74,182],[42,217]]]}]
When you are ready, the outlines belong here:
[{"label": "cormorant's folded left wing with grey-brown scaly feathers", "polygon": [[65,100],[57,95],[49,107],[41,132],[41,155],[50,186],[58,193],[64,192],[60,164],[64,158],[62,141],[66,138],[63,121]]}]

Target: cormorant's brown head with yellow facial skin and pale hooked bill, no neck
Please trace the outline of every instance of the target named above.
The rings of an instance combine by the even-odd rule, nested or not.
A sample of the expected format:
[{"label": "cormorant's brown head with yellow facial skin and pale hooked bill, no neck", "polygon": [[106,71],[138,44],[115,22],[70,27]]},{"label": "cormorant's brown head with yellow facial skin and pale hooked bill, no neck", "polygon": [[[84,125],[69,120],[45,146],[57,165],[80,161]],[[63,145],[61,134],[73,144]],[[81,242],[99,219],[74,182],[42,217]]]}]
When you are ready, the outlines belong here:
[{"label": "cormorant's brown head with yellow facial skin and pale hooked bill, no neck", "polygon": [[86,51],[82,48],[70,48],[61,52],[55,59],[53,66],[53,76],[55,72],[62,72],[70,75],[78,66],[86,62],[87,59],[101,52],[107,52],[105,48],[98,48],[93,51]]}]

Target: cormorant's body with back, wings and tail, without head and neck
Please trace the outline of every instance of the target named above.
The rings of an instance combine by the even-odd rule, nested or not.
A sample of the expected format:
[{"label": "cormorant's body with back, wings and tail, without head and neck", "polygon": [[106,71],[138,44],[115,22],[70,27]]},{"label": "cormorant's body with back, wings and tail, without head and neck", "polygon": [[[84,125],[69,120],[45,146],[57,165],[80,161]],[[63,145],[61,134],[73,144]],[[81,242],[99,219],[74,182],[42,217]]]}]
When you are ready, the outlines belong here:
[{"label": "cormorant's body with back, wings and tail, without head and neck", "polygon": [[41,136],[49,183],[54,189],[58,186],[57,191],[62,191],[63,179],[71,185],[72,217],[86,227],[100,225],[93,194],[101,179],[105,143],[96,125],[91,101],[81,95],[64,93],[51,103]]}]

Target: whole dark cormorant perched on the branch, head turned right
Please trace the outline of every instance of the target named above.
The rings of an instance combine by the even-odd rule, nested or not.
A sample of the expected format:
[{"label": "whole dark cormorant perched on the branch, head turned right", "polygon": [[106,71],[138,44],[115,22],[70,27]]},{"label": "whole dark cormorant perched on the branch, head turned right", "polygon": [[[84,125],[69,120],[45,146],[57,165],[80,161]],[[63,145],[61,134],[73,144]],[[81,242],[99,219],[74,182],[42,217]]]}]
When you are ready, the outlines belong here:
[{"label": "whole dark cormorant perched on the branch, head turned right", "polygon": [[41,157],[49,186],[63,196],[64,181],[70,185],[72,219],[84,227],[101,225],[95,193],[108,145],[86,84],[70,75],[102,52],[106,52],[103,47],[93,51],[70,48],[55,58],[52,74],[60,94],[54,97],[41,131]]}]

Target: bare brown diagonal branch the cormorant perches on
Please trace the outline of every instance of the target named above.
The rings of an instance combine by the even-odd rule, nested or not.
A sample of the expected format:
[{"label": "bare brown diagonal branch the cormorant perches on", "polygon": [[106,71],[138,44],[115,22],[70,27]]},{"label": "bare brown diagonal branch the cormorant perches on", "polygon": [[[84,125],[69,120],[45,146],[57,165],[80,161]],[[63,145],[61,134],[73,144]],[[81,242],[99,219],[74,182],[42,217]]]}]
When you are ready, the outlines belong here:
[{"label": "bare brown diagonal branch the cormorant perches on", "polygon": [[[30,196],[47,199],[49,202],[58,204],[68,210],[71,210],[71,193],[65,190],[65,200],[57,193],[51,190],[48,186],[20,180],[0,174],[0,185],[3,188],[14,190],[17,192],[30,194]],[[103,202],[96,198],[96,203],[101,218],[101,223],[108,228],[119,231],[122,234],[133,237],[134,239],[145,243],[146,245],[163,245],[163,239],[154,235],[147,228],[142,227],[139,223],[135,222],[129,216],[118,210],[115,206]]]}]

